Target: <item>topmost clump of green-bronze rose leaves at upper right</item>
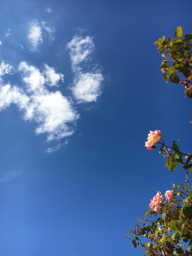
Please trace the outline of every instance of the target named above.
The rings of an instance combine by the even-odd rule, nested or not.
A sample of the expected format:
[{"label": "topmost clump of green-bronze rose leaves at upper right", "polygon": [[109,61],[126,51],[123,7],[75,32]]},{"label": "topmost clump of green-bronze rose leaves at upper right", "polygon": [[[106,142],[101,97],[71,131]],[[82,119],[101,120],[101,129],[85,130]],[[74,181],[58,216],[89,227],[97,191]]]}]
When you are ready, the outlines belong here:
[{"label": "topmost clump of green-bronze rose leaves at upper right", "polygon": [[166,83],[169,80],[181,83],[185,88],[184,94],[192,98],[192,34],[183,36],[182,28],[177,27],[174,35],[175,39],[169,37],[166,40],[163,36],[154,42],[163,57],[161,72]]}]

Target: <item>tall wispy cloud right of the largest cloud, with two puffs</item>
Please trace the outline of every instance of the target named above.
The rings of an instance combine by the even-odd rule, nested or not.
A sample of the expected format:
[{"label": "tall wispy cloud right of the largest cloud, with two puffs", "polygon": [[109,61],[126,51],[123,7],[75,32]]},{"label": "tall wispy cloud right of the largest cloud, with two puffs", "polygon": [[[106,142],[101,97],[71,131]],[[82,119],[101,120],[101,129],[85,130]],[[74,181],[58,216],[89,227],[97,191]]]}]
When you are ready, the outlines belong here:
[{"label": "tall wispy cloud right of the largest cloud, with two puffs", "polygon": [[[71,67],[74,72],[74,86],[71,87],[71,91],[75,99],[78,103],[97,101],[101,94],[103,75],[101,70],[95,67],[95,63],[86,65],[93,59],[95,47],[92,38],[74,36],[67,43],[67,49],[69,49]],[[84,69],[88,69],[89,72],[85,72]]]}]

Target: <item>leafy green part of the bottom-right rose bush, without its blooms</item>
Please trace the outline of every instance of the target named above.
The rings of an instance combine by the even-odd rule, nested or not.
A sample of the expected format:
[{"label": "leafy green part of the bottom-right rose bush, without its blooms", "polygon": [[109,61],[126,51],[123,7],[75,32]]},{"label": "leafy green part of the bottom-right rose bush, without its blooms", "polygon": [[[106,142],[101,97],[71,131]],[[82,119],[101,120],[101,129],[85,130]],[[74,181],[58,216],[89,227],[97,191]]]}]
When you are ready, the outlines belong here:
[{"label": "leafy green part of the bottom-right rose bush, without its blooms", "polygon": [[159,211],[150,209],[144,215],[148,213],[150,218],[138,218],[139,224],[127,233],[133,235],[134,247],[141,245],[141,252],[146,256],[192,254],[192,186],[188,180],[179,186],[173,185],[171,202],[163,198]]}]

